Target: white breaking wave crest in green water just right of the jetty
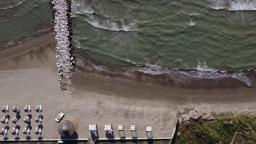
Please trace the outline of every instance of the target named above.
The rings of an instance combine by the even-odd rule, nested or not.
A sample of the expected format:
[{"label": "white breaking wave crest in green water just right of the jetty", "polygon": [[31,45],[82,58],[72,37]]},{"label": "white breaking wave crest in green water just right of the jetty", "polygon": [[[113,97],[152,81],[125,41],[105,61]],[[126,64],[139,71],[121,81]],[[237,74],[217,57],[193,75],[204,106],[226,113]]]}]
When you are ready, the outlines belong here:
[{"label": "white breaking wave crest in green water just right of the jetty", "polygon": [[100,29],[105,30],[112,30],[112,31],[135,31],[138,28],[138,25],[135,21],[128,21],[125,20],[114,21],[108,18],[103,18],[99,20],[91,14],[87,19],[85,19],[87,23],[91,24],[92,26]]}]

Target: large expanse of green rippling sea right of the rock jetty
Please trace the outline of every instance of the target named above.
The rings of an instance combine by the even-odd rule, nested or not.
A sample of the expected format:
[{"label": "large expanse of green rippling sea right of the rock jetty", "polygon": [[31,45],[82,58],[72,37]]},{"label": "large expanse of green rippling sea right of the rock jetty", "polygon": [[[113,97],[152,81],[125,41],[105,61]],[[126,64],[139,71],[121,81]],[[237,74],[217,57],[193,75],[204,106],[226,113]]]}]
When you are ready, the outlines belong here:
[{"label": "large expanse of green rippling sea right of the rock jetty", "polygon": [[77,52],[108,66],[256,69],[256,0],[73,0]]}]

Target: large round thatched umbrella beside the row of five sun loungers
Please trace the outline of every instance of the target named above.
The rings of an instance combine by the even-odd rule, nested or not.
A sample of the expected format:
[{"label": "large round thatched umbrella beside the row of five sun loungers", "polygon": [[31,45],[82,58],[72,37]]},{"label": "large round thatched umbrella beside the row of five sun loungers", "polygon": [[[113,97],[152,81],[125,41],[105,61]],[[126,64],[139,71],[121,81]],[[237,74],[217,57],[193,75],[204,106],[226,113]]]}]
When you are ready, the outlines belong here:
[{"label": "large round thatched umbrella beside the row of five sun loungers", "polygon": [[71,137],[75,133],[75,124],[69,120],[59,123],[58,132],[62,137]]}]

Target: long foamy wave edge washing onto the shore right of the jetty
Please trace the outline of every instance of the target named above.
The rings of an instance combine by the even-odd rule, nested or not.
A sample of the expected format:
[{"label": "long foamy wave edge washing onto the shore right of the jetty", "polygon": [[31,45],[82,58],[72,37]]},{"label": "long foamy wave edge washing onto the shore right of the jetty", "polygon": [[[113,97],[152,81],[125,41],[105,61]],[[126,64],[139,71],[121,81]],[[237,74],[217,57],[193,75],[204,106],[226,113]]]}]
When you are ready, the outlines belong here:
[{"label": "long foamy wave edge washing onto the shore right of the jetty", "polygon": [[[77,55],[79,56],[79,55]],[[118,73],[118,74],[126,74],[129,72],[143,72],[151,75],[167,75],[171,79],[177,81],[184,81],[186,79],[216,79],[221,80],[225,78],[238,79],[242,82],[245,82],[248,86],[256,85],[256,79],[250,78],[246,75],[245,72],[226,72],[226,71],[217,71],[212,69],[207,69],[204,67],[202,70],[193,70],[193,69],[171,69],[171,68],[161,68],[157,65],[146,65],[146,66],[135,66],[129,68],[128,70],[120,70],[120,69],[111,69],[105,65],[96,65],[93,62],[83,59],[85,62],[93,65],[95,69],[103,70],[106,72]],[[203,64],[200,65],[205,65]]]}]

